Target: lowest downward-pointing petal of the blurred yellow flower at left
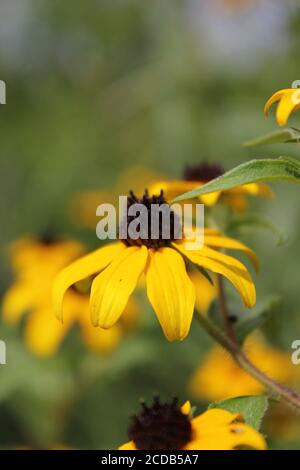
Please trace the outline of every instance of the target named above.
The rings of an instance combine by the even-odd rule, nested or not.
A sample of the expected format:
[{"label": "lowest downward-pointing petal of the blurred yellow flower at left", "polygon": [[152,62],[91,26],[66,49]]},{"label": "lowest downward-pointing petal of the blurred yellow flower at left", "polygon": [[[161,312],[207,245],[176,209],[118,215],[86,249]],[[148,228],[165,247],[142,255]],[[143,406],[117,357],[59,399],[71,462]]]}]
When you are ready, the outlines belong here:
[{"label": "lowest downward-pointing petal of the blurred yellow flower at left", "polygon": [[53,315],[51,308],[33,311],[25,326],[25,339],[29,349],[40,357],[53,355],[70,329],[70,318],[64,324]]}]

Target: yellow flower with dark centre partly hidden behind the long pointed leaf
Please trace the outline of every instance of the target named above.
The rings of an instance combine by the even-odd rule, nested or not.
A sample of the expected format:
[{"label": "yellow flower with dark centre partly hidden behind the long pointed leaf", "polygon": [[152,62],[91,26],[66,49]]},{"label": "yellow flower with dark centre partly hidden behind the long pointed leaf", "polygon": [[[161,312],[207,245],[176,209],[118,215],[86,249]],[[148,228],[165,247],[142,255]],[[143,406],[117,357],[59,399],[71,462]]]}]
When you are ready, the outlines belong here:
[{"label": "yellow flower with dark centre partly hidden behind the long pointed leaf", "polygon": [[[156,193],[160,188],[163,189],[166,199],[170,201],[179,194],[192,191],[223,173],[223,168],[218,164],[202,162],[189,165],[185,168],[181,180],[158,181],[151,186],[151,191]],[[271,198],[273,193],[265,184],[251,183],[224,191],[204,194],[199,196],[199,200],[208,207],[214,206],[217,202],[222,202],[237,212],[243,212],[247,207],[247,196]]]}]

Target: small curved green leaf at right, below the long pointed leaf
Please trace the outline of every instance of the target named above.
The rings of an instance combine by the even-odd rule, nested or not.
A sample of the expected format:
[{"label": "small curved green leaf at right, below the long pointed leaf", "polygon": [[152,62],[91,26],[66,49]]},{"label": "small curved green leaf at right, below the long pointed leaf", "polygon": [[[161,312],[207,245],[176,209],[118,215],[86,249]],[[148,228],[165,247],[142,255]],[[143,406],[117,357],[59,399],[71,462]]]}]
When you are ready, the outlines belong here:
[{"label": "small curved green leaf at right, below the long pointed leaf", "polygon": [[276,237],[277,246],[283,245],[286,238],[279,228],[271,220],[259,214],[247,214],[243,217],[234,218],[227,225],[225,232],[233,235],[236,233],[249,233],[256,229],[269,230]]}]

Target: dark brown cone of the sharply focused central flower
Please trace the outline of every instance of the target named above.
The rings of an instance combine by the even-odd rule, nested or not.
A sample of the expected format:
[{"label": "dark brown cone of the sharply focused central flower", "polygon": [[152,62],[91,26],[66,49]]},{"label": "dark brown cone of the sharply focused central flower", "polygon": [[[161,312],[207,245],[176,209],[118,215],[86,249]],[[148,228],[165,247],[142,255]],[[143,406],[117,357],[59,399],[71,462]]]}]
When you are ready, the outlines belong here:
[{"label": "dark brown cone of the sharply focused central flower", "polygon": [[[137,214],[130,215],[130,208],[133,208],[134,205],[136,208],[138,208],[137,205],[143,206],[146,214],[145,219],[140,217],[139,211]],[[139,220],[146,222],[143,227],[141,227]],[[135,238],[130,234],[132,223],[135,224],[138,232],[138,236]],[[158,249],[169,246],[175,239],[182,238],[181,220],[167,203],[163,191],[158,195],[149,196],[148,190],[145,190],[141,198],[130,191],[127,198],[127,214],[122,221],[122,232],[124,229],[127,238],[122,241],[127,246],[145,245],[147,248]]]}]

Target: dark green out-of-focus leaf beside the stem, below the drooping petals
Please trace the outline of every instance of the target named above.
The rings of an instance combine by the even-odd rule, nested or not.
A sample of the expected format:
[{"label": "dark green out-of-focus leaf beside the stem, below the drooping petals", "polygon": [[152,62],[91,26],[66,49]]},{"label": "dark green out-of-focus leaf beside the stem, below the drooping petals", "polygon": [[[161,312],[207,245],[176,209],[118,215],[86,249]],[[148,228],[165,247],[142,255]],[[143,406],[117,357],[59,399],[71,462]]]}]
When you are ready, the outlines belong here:
[{"label": "dark green out-of-focus leaf beside the stem, below the drooping petals", "polygon": [[280,304],[280,296],[272,295],[258,304],[251,312],[244,313],[235,324],[237,340],[243,343],[252,331],[259,328]]}]

